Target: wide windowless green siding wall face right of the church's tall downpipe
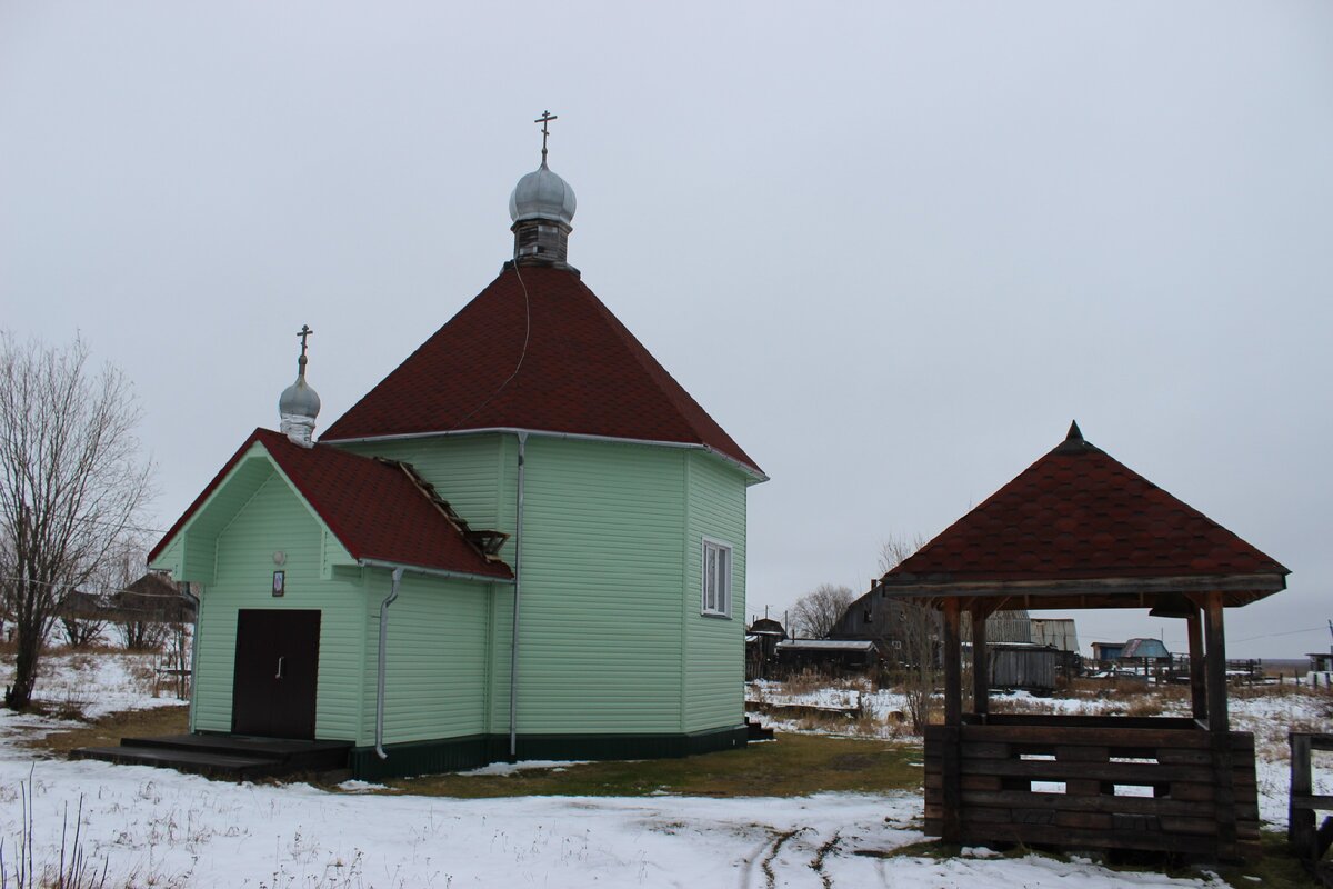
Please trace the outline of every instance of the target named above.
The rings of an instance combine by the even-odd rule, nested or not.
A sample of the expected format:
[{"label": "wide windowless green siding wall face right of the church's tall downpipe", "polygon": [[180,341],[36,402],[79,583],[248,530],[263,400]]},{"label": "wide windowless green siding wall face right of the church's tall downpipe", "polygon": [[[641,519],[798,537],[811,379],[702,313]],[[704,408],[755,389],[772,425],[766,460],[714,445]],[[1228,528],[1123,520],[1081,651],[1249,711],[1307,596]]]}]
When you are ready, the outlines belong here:
[{"label": "wide windowless green siding wall face right of the church's tall downpipe", "polygon": [[[684,461],[678,449],[528,440],[521,733],[680,729]],[[497,625],[497,649],[508,632]],[[500,696],[492,724],[508,728]]]}]

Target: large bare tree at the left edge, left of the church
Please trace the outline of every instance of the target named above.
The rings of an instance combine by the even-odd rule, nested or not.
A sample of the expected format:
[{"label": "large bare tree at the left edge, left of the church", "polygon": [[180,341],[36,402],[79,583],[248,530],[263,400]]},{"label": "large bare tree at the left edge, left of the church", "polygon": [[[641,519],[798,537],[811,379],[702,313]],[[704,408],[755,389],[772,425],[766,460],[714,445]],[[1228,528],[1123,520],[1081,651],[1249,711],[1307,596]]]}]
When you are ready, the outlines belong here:
[{"label": "large bare tree at the left edge, left of the church", "polygon": [[87,364],[83,340],[48,348],[0,331],[0,592],[16,630],[12,709],[32,700],[61,597],[133,532],[149,496],[131,385],[109,365]]}]

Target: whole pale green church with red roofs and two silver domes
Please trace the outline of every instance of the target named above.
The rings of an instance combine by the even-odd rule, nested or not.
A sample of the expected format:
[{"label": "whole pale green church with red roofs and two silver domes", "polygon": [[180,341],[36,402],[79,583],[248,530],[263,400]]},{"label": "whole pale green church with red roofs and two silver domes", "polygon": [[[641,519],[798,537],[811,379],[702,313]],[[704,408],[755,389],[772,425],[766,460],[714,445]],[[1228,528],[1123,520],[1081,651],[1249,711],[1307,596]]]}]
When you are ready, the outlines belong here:
[{"label": "whole pale green church with red roofs and two silver domes", "polygon": [[567,263],[545,145],[509,213],[513,259],[317,444],[303,335],[281,431],[152,550],[203,590],[191,732],[359,777],[745,744],[766,476]]}]

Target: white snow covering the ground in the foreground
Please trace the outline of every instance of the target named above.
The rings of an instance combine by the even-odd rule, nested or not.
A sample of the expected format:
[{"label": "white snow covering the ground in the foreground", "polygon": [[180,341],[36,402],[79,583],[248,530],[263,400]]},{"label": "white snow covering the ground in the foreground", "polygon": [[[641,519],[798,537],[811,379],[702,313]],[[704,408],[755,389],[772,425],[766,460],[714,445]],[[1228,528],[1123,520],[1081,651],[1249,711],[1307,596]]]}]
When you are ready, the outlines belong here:
[{"label": "white snow covering the ground in the foreground", "polygon": [[[163,702],[132,680],[141,664],[115,658],[121,661],[115,666],[52,660],[44,694],[60,700],[61,682],[72,682],[83,698],[96,701],[95,710],[105,709],[103,701]],[[0,681],[7,672],[0,669]],[[888,701],[881,704],[881,713],[889,712]],[[1286,718],[1282,706],[1290,705],[1276,706],[1258,718]],[[15,744],[60,725],[0,710],[0,837],[12,862],[23,824],[21,785],[28,784],[36,858],[55,861],[65,814],[72,833],[81,805],[85,856],[108,862],[109,886],[912,889],[1066,886],[1073,880],[1098,889],[1210,882],[1206,874],[1172,880],[1110,872],[1078,857],[1005,858],[985,849],[950,860],[882,857],[922,840],[914,793],[451,800],[364,793],[373,789],[364,784],[347,786],[351,793],[304,784],[235,785],[141,766],[37,758]]]}]

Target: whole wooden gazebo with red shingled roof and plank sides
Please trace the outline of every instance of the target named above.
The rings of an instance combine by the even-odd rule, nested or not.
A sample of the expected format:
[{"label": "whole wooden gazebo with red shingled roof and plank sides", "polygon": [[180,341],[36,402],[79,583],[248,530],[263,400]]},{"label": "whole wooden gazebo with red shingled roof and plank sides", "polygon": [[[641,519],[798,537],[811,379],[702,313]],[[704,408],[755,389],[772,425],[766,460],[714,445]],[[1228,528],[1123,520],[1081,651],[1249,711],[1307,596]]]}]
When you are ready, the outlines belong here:
[{"label": "whole wooden gazebo with red shingled roof and plank sides", "polygon": [[[966,845],[1248,857],[1258,840],[1254,738],[1228,724],[1222,612],[1284,589],[1288,573],[1072,425],[1065,441],[878,582],[885,597],[944,616],[944,724],[925,734],[926,833]],[[1144,608],[1184,618],[1192,718],[990,713],[985,624],[1000,608]]]}]

